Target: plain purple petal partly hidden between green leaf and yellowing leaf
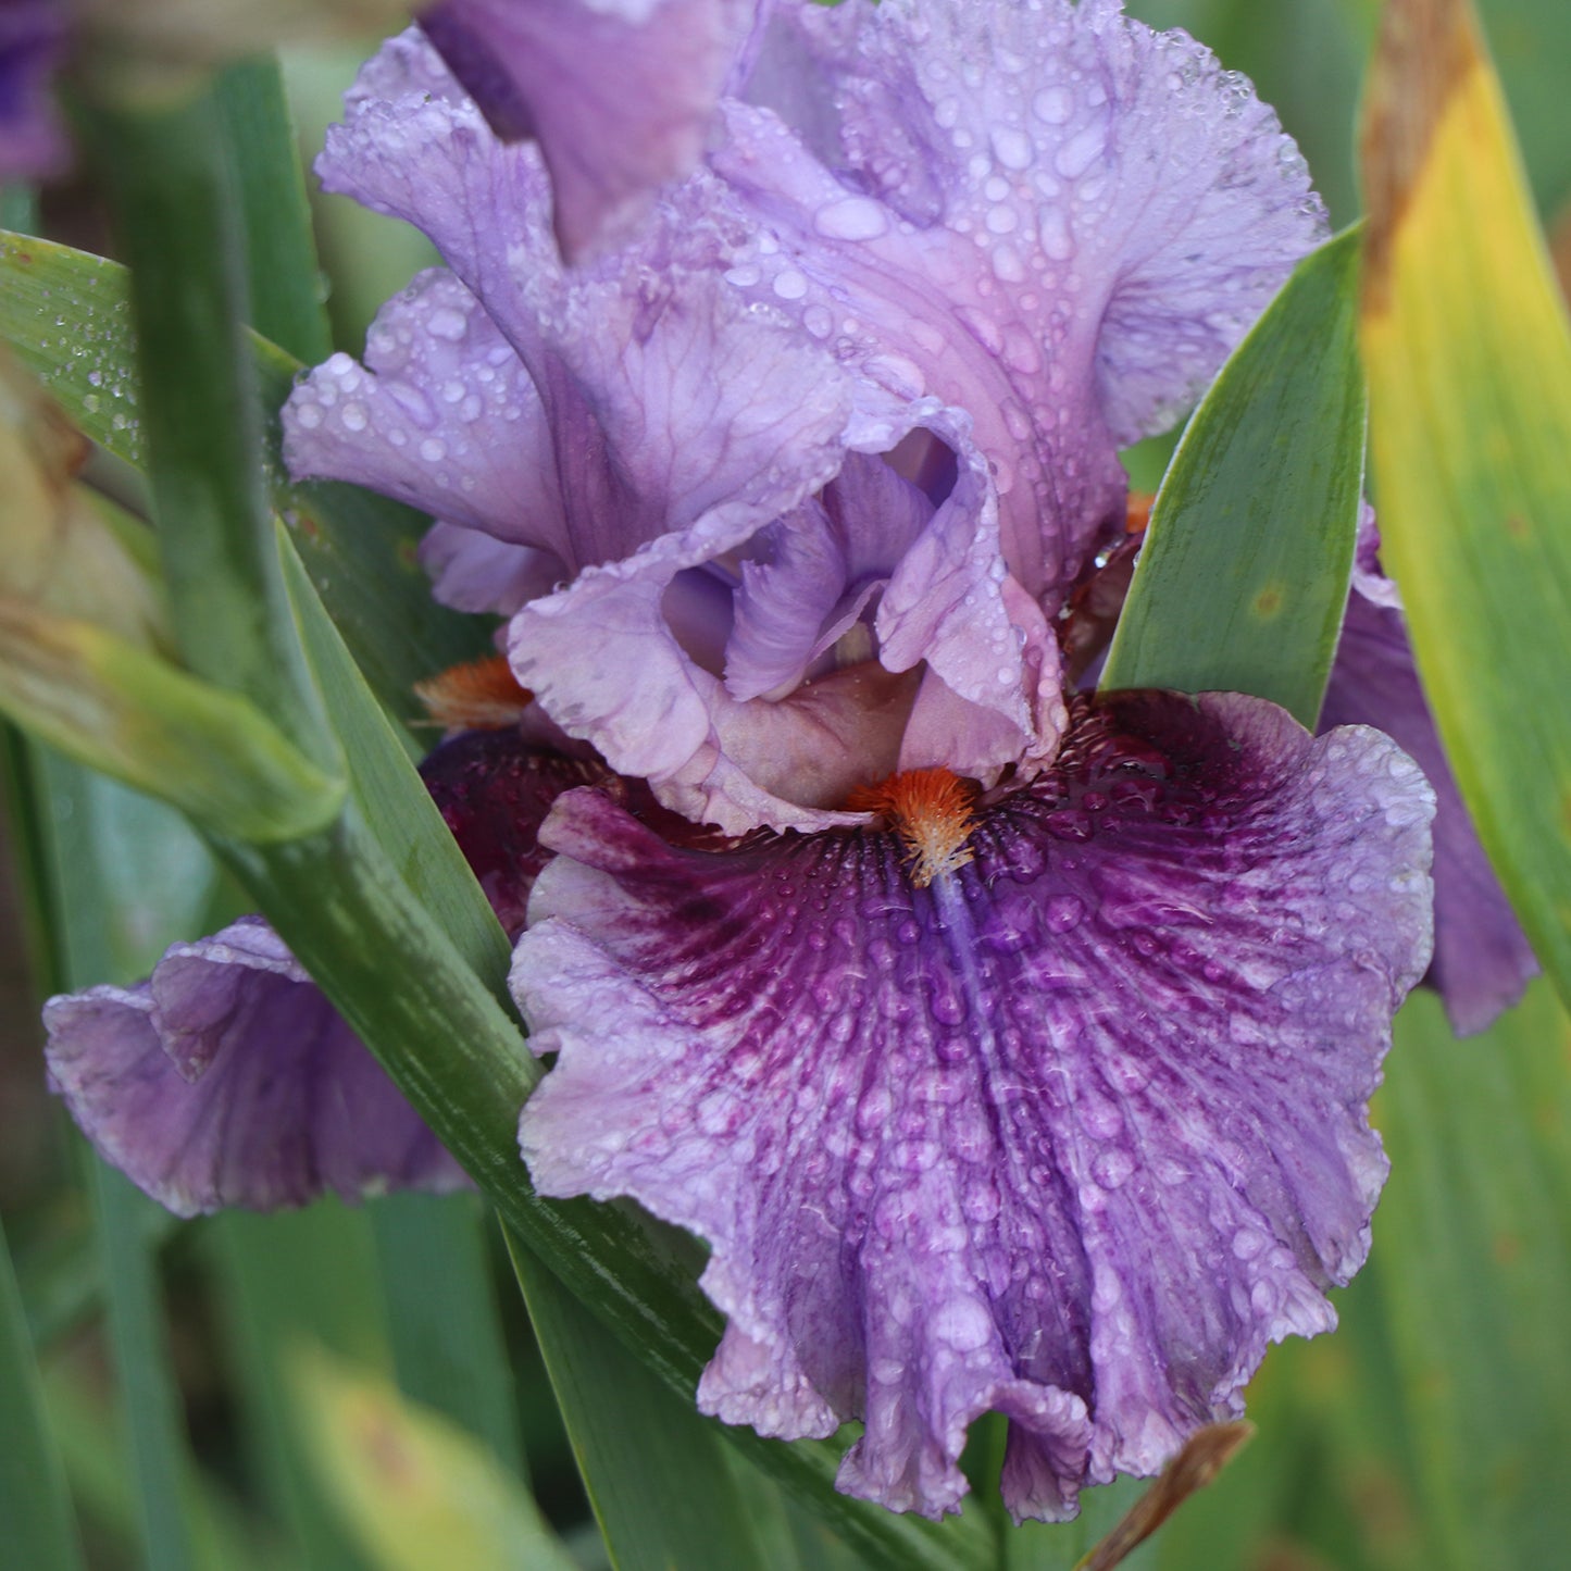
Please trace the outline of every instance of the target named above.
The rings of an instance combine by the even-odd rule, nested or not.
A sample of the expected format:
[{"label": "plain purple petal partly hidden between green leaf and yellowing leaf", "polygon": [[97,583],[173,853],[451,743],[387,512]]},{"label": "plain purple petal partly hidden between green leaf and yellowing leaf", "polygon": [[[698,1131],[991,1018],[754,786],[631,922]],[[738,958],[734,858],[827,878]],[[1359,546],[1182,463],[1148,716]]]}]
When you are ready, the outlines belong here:
[{"label": "plain purple petal partly hidden between green leaf and yellowing leaf", "polygon": [[1483,1031],[1538,974],[1538,960],[1478,844],[1419,685],[1393,586],[1370,553],[1348,595],[1323,729],[1376,726],[1434,787],[1434,963],[1426,980],[1458,1034]]}]

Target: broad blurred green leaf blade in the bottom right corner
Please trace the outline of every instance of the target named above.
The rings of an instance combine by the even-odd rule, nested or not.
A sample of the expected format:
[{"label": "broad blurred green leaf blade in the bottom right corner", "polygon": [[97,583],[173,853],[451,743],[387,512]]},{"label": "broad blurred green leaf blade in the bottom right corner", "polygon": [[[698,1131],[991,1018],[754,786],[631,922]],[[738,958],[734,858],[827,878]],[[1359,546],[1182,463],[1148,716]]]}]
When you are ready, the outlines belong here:
[{"label": "broad blurred green leaf blade in the bottom right corner", "polygon": [[1543,982],[1466,1042],[1433,996],[1397,1021],[1370,1268],[1417,1452],[1425,1566],[1538,1571],[1571,1538],[1568,1046]]}]

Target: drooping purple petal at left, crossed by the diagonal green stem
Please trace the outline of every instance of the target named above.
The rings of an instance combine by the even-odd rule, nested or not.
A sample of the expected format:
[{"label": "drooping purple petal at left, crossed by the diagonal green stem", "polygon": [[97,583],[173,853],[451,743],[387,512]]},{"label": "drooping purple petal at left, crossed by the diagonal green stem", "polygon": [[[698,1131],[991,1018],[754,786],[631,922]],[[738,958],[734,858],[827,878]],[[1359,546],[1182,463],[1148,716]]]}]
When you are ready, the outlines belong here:
[{"label": "drooping purple petal at left, crossed by the diagonal green stem", "polygon": [[[605,771],[471,732],[426,784],[509,935],[556,796]],[[104,1158],[182,1216],[324,1192],[451,1189],[463,1172],[261,917],[176,944],[148,982],[50,999],[50,1086]]]}]

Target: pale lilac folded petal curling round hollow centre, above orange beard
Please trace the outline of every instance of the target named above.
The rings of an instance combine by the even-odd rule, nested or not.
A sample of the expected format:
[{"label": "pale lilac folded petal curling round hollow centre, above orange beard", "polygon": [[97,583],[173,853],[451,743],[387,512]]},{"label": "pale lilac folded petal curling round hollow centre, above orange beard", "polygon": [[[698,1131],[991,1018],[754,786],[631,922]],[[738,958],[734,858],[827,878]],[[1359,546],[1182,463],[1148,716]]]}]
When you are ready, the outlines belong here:
[{"label": "pale lilac folded petal curling round hollow centre, above orange beard", "polygon": [[[911,413],[963,443],[949,412]],[[891,451],[908,429],[881,427],[869,445]],[[1040,608],[1002,567],[994,493],[974,449],[881,592],[877,660],[815,676],[784,696],[738,698],[727,671],[699,663],[694,641],[677,636],[669,595],[683,573],[738,551],[760,525],[737,503],[716,507],[690,529],[531,602],[509,628],[518,680],[619,773],[647,779],[677,812],[734,834],[760,823],[858,822],[840,811],[845,796],[900,762],[924,663],[957,705],[983,712],[946,732],[941,762],[991,781],[1009,764],[1034,767],[1051,754],[1062,721],[1056,647]],[[859,566],[842,561],[831,603],[853,589]],[[820,586],[818,602],[831,592]],[[820,622],[815,641],[822,632]],[[754,660],[743,671],[756,679],[757,644],[743,652]],[[938,740],[938,732],[925,735]]]}]

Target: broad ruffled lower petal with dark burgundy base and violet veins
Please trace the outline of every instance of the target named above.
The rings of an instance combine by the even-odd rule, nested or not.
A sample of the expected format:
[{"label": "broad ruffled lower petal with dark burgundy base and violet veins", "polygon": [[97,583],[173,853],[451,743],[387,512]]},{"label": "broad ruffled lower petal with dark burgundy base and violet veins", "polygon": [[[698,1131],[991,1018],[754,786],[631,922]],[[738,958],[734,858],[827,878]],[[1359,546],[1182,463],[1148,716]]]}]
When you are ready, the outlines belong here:
[{"label": "broad ruffled lower petal with dark burgundy base and violet veins", "polygon": [[660,839],[595,792],[542,837],[512,987],[558,1065],[545,1194],[705,1236],[701,1406],[866,1422],[840,1485],[938,1514],[1012,1420],[1016,1514],[1148,1474],[1334,1323],[1386,1161],[1365,1104],[1430,958],[1433,795],[1384,737],[1119,696],[914,888],[892,833]]}]

